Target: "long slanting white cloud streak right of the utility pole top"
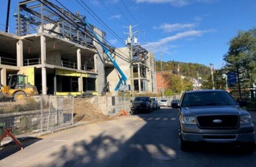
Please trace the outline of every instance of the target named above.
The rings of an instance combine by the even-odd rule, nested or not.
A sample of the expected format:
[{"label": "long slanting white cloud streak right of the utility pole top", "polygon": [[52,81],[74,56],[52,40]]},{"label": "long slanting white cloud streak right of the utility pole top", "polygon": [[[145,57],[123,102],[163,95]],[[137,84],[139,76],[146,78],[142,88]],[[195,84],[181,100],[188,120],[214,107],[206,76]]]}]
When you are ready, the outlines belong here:
[{"label": "long slanting white cloud streak right of the utility pole top", "polygon": [[176,35],[166,37],[159,39],[157,42],[150,42],[145,45],[143,45],[144,48],[148,49],[150,52],[157,53],[159,51],[166,52],[170,48],[169,42],[177,41],[179,39],[187,39],[187,38],[193,38],[193,37],[200,37],[201,35],[207,33],[207,32],[215,32],[216,30],[210,29],[210,30],[192,30],[192,31],[185,31],[177,33]]}]

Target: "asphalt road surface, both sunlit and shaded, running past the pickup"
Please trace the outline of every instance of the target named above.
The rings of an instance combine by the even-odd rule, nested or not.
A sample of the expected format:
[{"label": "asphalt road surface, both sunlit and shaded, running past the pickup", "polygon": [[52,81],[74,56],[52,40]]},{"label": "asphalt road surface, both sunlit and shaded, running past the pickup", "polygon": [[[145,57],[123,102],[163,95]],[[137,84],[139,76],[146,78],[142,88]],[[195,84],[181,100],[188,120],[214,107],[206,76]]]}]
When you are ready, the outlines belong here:
[{"label": "asphalt road surface, both sunlit and shaded, running past the pickup", "polygon": [[248,154],[237,147],[197,144],[182,152],[177,110],[169,107],[23,144],[24,150],[0,150],[0,166],[256,166],[256,151]]}]

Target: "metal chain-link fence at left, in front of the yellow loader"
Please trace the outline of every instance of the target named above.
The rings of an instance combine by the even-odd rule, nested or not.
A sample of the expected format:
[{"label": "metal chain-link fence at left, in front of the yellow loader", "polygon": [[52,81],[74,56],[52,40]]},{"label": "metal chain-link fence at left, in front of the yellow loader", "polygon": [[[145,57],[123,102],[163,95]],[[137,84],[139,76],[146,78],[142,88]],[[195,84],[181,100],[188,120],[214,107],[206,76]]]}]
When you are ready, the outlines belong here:
[{"label": "metal chain-link fence at left, in front of the yellow loader", "polygon": [[[73,124],[73,96],[31,96],[0,102],[0,136],[9,128],[16,137]],[[8,140],[8,137],[5,138]]]}]

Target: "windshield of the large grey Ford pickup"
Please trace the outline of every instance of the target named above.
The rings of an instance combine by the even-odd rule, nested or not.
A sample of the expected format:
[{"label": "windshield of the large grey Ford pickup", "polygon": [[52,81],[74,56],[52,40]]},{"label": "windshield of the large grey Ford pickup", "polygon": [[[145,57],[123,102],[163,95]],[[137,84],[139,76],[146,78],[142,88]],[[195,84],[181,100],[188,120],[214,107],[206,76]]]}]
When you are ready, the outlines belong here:
[{"label": "windshield of the large grey Ford pickup", "polygon": [[194,92],[186,93],[182,100],[182,107],[189,106],[231,106],[237,105],[233,97],[227,92]]}]

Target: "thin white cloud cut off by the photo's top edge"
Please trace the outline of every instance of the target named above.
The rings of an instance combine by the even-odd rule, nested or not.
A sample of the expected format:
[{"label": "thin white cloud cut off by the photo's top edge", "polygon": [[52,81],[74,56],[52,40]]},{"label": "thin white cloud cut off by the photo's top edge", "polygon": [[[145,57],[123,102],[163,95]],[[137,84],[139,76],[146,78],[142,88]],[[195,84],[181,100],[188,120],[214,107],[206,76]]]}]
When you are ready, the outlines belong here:
[{"label": "thin white cloud cut off by the photo's top edge", "polygon": [[218,0],[135,0],[137,3],[170,3],[174,6],[185,6],[193,2],[206,2],[212,3]]}]

